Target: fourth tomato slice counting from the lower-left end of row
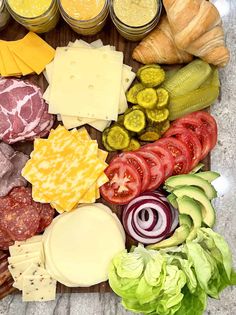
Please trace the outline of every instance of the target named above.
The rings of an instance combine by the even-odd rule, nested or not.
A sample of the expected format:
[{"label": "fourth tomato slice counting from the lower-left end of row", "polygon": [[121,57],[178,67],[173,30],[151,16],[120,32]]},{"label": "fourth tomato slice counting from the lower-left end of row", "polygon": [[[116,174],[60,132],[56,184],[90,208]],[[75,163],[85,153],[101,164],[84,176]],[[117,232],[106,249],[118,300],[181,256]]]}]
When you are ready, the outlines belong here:
[{"label": "fourth tomato slice counting from the lower-left end of row", "polygon": [[174,171],[175,161],[169,150],[166,150],[165,148],[156,145],[156,142],[146,144],[145,146],[143,146],[142,150],[151,151],[159,156],[164,168],[165,179],[169,178],[172,175]]}]

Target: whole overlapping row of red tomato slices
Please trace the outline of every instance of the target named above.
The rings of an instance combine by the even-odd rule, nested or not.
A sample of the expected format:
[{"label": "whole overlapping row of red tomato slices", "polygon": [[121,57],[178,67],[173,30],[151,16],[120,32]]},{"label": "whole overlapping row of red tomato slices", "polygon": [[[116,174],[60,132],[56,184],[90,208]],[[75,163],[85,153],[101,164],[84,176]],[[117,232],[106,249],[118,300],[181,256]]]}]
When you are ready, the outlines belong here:
[{"label": "whole overlapping row of red tomato slices", "polygon": [[100,188],[101,195],[112,204],[125,205],[140,193],[157,189],[170,176],[189,173],[216,142],[217,125],[209,113],[177,119],[162,139],[117,155],[105,171],[109,182]]}]

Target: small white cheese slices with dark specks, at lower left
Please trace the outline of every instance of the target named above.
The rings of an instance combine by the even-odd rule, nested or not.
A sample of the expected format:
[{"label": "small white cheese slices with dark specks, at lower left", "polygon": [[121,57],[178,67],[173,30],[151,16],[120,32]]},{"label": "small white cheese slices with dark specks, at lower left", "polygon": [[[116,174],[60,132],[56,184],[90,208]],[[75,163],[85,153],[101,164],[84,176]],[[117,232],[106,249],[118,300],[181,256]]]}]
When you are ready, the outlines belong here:
[{"label": "small white cheese slices with dark specks, at lower left", "polygon": [[44,268],[42,236],[10,246],[9,271],[13,286],[22,290],[23,301],[50,301],[56,296],[56,281]]}]

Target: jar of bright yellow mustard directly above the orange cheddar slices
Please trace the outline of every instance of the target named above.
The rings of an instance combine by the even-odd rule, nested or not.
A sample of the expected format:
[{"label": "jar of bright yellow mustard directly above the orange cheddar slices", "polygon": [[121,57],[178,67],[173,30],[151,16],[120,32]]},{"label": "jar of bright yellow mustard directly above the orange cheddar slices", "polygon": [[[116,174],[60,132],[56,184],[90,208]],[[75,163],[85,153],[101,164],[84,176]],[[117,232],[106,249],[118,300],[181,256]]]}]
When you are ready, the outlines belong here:
[{"label": "jar of bright yellow mustard directly above the orange cheddar slices", "polygon": [[35,33],[52,30],[60,17],[56,0],[5,0],[11,16]]}]

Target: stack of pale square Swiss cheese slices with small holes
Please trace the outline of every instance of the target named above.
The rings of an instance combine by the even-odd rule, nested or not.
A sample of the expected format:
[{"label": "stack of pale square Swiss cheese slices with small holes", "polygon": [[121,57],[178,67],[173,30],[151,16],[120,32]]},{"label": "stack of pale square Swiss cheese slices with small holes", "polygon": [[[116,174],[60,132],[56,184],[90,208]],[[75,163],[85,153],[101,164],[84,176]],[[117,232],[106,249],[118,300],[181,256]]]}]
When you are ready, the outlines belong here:
[{"label": "stack of pale square Swiss cheese slices with small holes", "polygon": [[89,124],[99,131],[127,109],[125,92],[135,78],[132,68],[123,65],[123,53],[101,40],[57,48],[44,74],[49,113],[59,114],[67,129]]}]

